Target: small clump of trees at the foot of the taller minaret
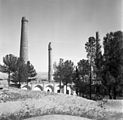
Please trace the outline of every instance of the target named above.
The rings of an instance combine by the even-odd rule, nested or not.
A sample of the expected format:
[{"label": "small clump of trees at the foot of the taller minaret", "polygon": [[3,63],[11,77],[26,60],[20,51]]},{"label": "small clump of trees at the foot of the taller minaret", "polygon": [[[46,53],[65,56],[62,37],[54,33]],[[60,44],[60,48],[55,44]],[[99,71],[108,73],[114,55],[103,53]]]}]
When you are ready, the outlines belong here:
[{"label": "small clump of trees at the foot of the taller minaret", "polygon": [[31,80],[35,80],[37,73],[30,61],[25,63],[20,58],[9,54],[3,57],[3,63],[3,65],[0,64],[0,72],[8,74],[8,86],[12,82],[20,87],[23,82],[28,84]]}]

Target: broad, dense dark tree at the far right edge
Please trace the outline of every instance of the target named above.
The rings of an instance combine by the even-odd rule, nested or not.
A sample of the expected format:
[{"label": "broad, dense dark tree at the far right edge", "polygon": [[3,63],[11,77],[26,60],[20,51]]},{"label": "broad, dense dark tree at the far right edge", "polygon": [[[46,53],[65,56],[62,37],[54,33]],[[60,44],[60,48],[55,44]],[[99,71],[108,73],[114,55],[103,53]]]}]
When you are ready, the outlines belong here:
[{"label": "broad, dense dark tree at the far right edge", "polygon": [[[104,37],[103,84],[107,86],[110,98],[116,99],[117,88],[121,86],[123,74],[122,62],[123,32],[110,32]],[[119,77],[120,76],[120,77]]]}]

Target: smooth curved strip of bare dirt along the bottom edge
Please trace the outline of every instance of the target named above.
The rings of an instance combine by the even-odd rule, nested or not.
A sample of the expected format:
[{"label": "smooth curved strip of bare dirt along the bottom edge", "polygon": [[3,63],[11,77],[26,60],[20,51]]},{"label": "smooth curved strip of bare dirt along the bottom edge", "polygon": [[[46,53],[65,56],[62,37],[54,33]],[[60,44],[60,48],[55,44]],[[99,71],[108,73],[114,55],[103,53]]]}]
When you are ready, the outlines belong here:
[{"label": "smooth curved strip of bare dirt along the bottom edge", "polygon": [[71,115],[44,115],[39,117],[28,118],[25,120],[91,120],[91,119]]}]

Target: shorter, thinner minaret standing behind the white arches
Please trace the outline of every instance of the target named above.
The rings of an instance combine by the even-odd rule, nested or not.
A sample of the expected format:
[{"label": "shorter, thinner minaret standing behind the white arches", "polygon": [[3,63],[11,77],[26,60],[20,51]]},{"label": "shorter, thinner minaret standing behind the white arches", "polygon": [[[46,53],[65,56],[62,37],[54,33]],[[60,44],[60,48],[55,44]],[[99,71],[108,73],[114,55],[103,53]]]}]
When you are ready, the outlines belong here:
[{"label": "shorter, thinner minaret standing behind the white arches", "polygon": [[52,80],[52,58],[51,54],[52,48],[51,48],[51,42],[48,44],[48,81],[50,82]]}]

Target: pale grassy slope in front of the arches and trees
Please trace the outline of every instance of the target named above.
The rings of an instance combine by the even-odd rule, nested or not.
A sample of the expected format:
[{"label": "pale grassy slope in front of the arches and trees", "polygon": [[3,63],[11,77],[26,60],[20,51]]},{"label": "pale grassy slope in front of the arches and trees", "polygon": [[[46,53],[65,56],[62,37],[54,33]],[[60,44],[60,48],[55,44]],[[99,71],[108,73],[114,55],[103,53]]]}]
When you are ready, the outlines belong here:
[{"label": "pale grassy slope in front of the arches and trees", "polygon": [[123,117],[123,110],[120,107],[122,105],[122,100],[95,102],[77,96],[10,88],[0,91],[0,120],[16,120],[48,114],[115,120]]}]

